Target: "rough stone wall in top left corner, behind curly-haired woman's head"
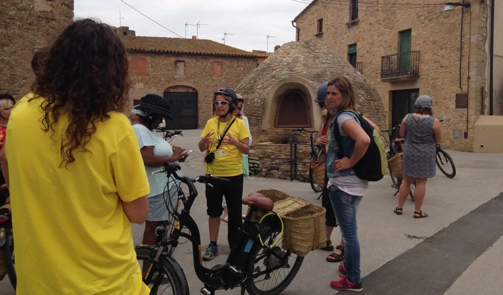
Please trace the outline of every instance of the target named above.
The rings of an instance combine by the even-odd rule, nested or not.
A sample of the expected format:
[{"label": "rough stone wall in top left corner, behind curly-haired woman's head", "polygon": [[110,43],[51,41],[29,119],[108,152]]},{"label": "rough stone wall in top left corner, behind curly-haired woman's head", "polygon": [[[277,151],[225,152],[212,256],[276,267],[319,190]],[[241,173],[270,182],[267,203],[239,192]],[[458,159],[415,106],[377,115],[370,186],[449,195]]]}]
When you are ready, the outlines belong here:
[{"label": "rough stone wall in top left corner, behind curly-haired woman's head", "polygon": [[35,78],[31,60],[73,19],[73,0],[10,0],[0,6],[0,92],[19,99]]}]

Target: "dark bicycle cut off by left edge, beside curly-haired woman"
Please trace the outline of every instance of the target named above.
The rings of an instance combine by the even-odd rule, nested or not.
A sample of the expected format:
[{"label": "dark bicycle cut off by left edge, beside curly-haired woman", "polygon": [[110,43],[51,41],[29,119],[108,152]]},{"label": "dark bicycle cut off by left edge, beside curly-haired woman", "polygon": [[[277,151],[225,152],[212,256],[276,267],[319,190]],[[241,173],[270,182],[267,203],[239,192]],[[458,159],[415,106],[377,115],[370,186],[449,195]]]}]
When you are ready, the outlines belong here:
[{"label": "dark bicycle cut off by left edge, beside curly-haired woman", "polygon": [[[0,175],[2,168],[0,168]],[[5,180],[2,176],[2,180]],[[0,194],[5,196],[5,200],[9,198],[9,190],[4,188]],[[4,199],[4,198],[2,198]],[[10,206],[0,207],[0,259],[4,260],[5,269],[9,281],[14,289],[16,289],[17,276],[16,276],[16,263],[14,260],[14,232],[12,230],[12,213]]]}]

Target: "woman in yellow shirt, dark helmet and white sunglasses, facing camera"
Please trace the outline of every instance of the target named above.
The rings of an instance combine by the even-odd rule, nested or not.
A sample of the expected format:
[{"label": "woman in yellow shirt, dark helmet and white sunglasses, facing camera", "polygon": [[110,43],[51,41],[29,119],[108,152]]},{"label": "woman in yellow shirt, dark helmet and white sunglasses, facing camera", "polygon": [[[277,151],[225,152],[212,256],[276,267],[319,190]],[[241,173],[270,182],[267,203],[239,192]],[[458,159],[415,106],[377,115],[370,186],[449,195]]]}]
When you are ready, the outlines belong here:
[{"label": "woman in yellow shirt, dark helmet and white sunglasses, facing camera", "polygon": [[221,88],[214,93],[213,104],[217,116],[206,122],[199,149],[206,151],[206,173],[228,178],[228,184],[206,185],[206,206],[209,216],[210,244],[203,260],[219,255],[217,238],[220,216],[223,212],[222,198],[225,197],[229,218],[227,239],[232,249],[237,229],[242,225],[241,198],[243,194],[242,154],[248,154],[250,133],[246,125],[232,113],[237,108],[237,95],[230,88]]}]

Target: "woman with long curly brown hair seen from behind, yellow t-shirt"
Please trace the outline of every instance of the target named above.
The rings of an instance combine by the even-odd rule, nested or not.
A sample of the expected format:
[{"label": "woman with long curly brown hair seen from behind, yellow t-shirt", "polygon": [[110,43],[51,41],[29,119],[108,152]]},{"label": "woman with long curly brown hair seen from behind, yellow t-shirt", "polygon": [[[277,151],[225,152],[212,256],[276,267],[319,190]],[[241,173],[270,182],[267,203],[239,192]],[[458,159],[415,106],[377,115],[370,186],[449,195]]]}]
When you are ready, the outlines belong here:
[{"label": "woman with long curly brown hair seen from behind, yellow t-shirt", "polygon": [[131,223],[147,217],[149,186],[121,113],[124,45],[109,26],[79,20],[38,65],[0,158],[18,233],[17,294],[146,295]]}]

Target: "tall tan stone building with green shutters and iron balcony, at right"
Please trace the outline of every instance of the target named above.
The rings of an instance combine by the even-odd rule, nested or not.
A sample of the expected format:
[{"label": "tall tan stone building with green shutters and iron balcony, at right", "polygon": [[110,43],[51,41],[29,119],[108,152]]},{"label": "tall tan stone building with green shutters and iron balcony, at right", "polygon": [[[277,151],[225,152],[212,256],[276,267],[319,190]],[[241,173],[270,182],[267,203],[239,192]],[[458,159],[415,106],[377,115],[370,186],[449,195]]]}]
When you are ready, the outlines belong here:
[{"label": "tall tan stone building with green shutters and iron balcony, at right", "polygon": [[[296,39],[324,43],[358,68],[381,96],[387,127],[399,125],[415,98],[428,94],[435,116],[444,120],[445,147],[494,151],[499,146],[503,152],[503,140],[495,143],[490,140],[495,134],[476,127],[503,131],[503,117],[481,116],[503,115],[503,94],[496,95],[503,93],[503,63],[491,59],[503,54],[503,37],[490,34],[492,26],[503,25],[503,4],[390,3],[314,0],[292,21]],[[491,7],[500,18],[492,17]]]}]

